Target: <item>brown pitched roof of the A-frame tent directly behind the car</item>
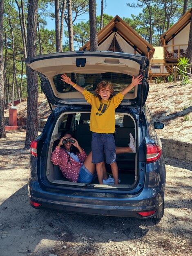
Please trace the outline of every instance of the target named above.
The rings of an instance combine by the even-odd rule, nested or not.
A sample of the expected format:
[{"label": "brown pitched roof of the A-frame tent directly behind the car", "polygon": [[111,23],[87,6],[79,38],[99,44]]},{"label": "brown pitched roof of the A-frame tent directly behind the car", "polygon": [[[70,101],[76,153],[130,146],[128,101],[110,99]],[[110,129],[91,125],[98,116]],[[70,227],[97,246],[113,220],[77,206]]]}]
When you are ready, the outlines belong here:
[{"label": "brown pitched roof of the A-frame tent directly behind the car", "polygon": [[[116,15],[98,34],[98,45],[103,43],[105,39],[112,33],[119,34],[129,45],[136,49],[140,54],[147,56],[148,49],[150,50],[150,58],[152,58],[154,47],[147,43],[132,27],[130,27],[124,20]],[[90,51],[90,40],[80,48],[80,51]]]}]

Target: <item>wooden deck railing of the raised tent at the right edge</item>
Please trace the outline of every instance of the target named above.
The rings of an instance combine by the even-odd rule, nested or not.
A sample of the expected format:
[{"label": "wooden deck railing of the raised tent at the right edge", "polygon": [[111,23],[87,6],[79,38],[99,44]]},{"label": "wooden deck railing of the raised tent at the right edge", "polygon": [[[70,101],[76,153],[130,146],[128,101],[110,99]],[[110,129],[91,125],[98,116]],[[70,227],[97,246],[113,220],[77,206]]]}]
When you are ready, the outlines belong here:
[{"label": "wooden deck railing of the raised tent at the right edge", "polygon": [[[183,44],[183,45],[164,45],[164,56],[165,59],[168,58],[180,58],[180,57],[184,57],[186,50],[184,50],[183,48],[187,47],[183,47],[183,46],[188,46],[188,44]],[[167,48],[172,48],[171,51],[167,51]],[[177,49],[176,49],[177,48]]]}]

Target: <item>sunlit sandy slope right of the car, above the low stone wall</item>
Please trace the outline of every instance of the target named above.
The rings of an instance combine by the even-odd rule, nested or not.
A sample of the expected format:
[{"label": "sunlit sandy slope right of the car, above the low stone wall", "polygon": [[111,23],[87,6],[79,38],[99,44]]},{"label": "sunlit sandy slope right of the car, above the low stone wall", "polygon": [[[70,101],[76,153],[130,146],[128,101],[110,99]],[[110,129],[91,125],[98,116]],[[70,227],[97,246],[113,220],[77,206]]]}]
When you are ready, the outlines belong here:
[{"label": "sunlit sandy slope right of the car, above the low stone wall", "polygon": [[192,83],[150,84],[147,104],[154,121],[165,124],[156,130],[160,137],[192,143]]}]

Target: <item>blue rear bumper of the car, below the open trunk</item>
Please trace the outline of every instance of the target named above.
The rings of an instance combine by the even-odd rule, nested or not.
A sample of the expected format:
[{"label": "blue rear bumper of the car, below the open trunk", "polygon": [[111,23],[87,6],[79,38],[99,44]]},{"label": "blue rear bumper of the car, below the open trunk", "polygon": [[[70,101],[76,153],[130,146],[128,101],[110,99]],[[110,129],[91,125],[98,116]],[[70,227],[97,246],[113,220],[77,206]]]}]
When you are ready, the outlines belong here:
[{"label": "blue rear bumper of the car, below the open trunk", "polygon": [[[164,188],[143,189],[138,195],[114,195],[109,197],[89,196],[89,192],[84,196],[83,193],[54,193],[42,191],[38,182],[30,182],[29,198],[33,202],[39,203],[36,209],[49,208],[60,211],[73,211],[78,213],[105,215],[105,216],[124,216],[140,219],[151,218],[158,215],[162,210],[164,198]],[[62,191],[63,192],[63,191]],[[66,191],[67,192],[67,191]],[[78,195],[77,195],[78,194]],[[93,194],[93,193],[92,193]],[[95,193],[98,195],[98,193]],[[33,205],[31,205],[33,206]],[[148,217],[138,214],[141,211],[156,212]]]}]

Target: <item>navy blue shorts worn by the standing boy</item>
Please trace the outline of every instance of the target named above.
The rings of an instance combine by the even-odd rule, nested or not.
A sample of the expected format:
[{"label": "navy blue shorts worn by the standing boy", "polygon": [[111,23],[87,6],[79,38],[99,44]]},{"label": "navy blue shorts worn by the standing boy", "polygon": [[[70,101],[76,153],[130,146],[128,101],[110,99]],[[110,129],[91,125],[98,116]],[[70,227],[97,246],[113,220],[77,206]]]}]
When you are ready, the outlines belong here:
[{"label": "navy blue shorts worn by the standing boy", "polygon": [[113,133],[96,133],[92,135],[92,163],[98,164],[104,161],[112,164],[116,162],[115,139]]}]

